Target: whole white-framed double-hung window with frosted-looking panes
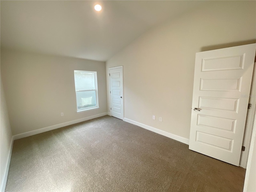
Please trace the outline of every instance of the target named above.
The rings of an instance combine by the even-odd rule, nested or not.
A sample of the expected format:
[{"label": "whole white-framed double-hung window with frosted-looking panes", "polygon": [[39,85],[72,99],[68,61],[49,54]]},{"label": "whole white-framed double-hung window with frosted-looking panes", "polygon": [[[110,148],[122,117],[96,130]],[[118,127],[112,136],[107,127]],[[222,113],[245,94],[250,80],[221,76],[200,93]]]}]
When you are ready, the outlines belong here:
[{"label": "whole white-framed double-hung window with frosted-looking panes", "polygon": [[77,112],[98,108],[96,71],[74,70]]}]

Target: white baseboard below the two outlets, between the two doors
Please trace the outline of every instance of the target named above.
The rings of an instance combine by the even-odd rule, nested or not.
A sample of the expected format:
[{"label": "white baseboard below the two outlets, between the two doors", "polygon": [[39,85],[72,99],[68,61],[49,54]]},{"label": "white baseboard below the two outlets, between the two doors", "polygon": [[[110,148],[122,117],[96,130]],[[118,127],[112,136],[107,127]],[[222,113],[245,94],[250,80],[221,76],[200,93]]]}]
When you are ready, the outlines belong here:
[{"label": "white baseboard below the two outlets, between the two doors", "polygon": [[124,118],[124,121],[128,122],[128,123],[131,123],[131,124],[134,124],[134,125],[137,125],[137,126],[140,126],[144,129],[150,130],[150,131],[158,133],[160,135],[166,136],[168,138],[174,139],[176,141],[182,142],[184,144],[187,144],[187,145],[189,144],[189,139],[187,139],[187,138],[184,138],[184,137],[172,134],[172,133],[168,133],[166,131],[163,131],[163,130],[160,130],[160,129],[157,129],[157,128],[154,128],[154,127],[151,127],[151,126],[148,126],[148,125],[145,125],[145,124],[127,119],[127,118]]}]

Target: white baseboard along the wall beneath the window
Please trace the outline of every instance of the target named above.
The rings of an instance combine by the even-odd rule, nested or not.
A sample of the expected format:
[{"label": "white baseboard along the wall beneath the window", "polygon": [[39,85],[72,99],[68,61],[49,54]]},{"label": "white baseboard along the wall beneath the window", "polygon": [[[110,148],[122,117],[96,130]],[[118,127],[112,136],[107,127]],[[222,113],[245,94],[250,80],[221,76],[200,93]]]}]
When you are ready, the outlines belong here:
[{"label": "white baseboard along the wall beneath the window", "polygon": [[50,131],[50,130],[58,129],[58,128],[61,128],[61,127],[65,127],[65,126],[68,126],[68,125],[80,123],[80,122],[87,121],[87,120],[90,120],[90,119],[94,119],[94,118],[97,118],[97,117],[102,117],[102,116],[105,116],[105,115],[108,115],[108,113],[107,112],[100,113],[100,114],[85,117],[85,118],[82,118],[82,119],[77,119],[77,120],[68,121],[68,122],[65,122],[65,123],[60,123],[60,124],[57,124],[57,125],[53,125],[53,126],[33,130],[33,131],[28,131],[28,132],[25,132],[25,133],[14,135],[13,139],[14,140],[21,139],[21,138],[24,138],[24,137],[28,137],[28,136],[36,135],[36,134],[43,133],[43,132],[46,132],[46,131]]}]

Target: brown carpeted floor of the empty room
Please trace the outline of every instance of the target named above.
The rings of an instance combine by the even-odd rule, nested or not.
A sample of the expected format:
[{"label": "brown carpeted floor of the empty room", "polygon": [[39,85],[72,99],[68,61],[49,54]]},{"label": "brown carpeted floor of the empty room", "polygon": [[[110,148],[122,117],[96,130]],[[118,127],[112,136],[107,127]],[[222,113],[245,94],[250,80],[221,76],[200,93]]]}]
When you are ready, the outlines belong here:
[{"label": "brown carpeted floor of the empty room", "polygon": [[242,192],[245,169],[104,116],[14,141],[6,191]]}]

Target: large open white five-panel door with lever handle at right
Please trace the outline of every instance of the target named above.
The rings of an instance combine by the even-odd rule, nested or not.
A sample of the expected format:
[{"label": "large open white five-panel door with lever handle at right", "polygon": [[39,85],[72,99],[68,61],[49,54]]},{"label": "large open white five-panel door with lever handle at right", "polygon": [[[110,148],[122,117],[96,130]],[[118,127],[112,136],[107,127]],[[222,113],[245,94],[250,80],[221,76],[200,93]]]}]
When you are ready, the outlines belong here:
[{"label": "large open white five-panel door with lever handle at right", "polygon": [[189,149],[239,165],[256,44],[196,53]]}]

